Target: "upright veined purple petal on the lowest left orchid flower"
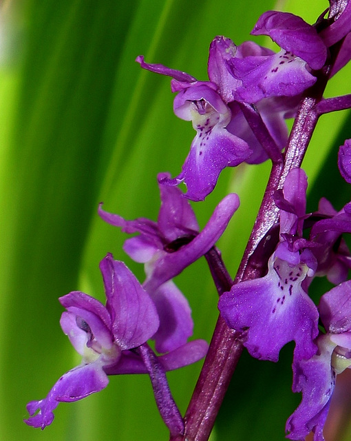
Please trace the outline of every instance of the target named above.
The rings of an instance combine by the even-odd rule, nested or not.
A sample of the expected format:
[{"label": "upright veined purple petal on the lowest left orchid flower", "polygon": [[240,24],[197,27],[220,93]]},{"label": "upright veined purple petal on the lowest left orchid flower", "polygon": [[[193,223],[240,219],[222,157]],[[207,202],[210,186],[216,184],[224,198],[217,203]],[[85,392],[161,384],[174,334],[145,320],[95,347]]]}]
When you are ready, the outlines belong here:
[{"label": "upright veined purple petal on the lowest left orchid flower", "polygon": [[145,343],[156,333],[159,320],[149,294],[123,262],[108,254],[100,262],[114,337],[121,349]]}]

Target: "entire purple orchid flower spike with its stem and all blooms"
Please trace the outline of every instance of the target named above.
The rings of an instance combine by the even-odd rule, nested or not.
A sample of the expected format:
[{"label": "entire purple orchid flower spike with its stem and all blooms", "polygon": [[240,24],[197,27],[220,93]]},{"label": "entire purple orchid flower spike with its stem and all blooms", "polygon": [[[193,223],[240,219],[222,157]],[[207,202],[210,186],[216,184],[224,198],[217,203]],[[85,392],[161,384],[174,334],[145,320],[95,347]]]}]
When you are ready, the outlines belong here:
[{"label": "entire purple orchid flower spike with its stem and all blooms", "polygon": [[[173,110],[192,122],[195,138],[178,176],[158,174],[157,222],[125,220],[106,212],[103,204],[98,207],[105,222],[137,234],[125,240],[124,249],[145,264],[146,278],[140,284],[123,262],[107,254],[100,262],[106,305],[81,291],[59,299],[66,309],[61,327],[82,362],[59,378],[46,398],[28,404],[27,424],[44,429],[59,402],[104,389],[108,376],[147,373],[171,440],[205,441],[242,348],[259,360],[277,362],[281,348],[293,341],[292,391],[301,392],[302,400],[286,422],[286,437],[304,440],[312,431],[314,441],[324,440],[336,377],[351,367],[351,253],[343,238],[351,232],[351,202],[337,212],[321,198],[316,211],[307,213],[308,178],[301,163],[319,116],[351,107],[351,95],[323,98],[328,80],[351,59],[350,32],[351,1],[330,0],[314,25],[287,12],[264,12],[251,34],[268,35],[279,45],[277,53],[253,41],[237,46],[215,37],[209,81],[136,59],[142,68],[171,77],[177,93]],[[290,134],[288,118],[295,118]],[[224,197],[201,231],[189,200],[203,201],[213,192],[225,167],[267,160],[272,169],[266,192],[232,280],[215,243],[238,209],[239,197]],[[350,139],[335,161],[351,183]],[[210,346],[188,341],[191,309],[173,282],[202,256],[220,296]],[[308,290],[322,276],[334,287],[315,305]],[[182,418],[166,371],[206,353]]]}]

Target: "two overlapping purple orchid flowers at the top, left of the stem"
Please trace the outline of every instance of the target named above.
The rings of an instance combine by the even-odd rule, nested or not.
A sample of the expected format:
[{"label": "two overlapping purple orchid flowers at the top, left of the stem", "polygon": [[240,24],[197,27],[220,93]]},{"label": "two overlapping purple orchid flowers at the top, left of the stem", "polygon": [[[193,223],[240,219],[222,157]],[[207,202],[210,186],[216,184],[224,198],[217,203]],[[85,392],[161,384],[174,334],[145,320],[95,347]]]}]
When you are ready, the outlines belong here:
[{"label": "two overlapping purple orchid flowers at the top, left of the stem", "polygon": [[269,152],[242,112],[242,103],[255,106],[277,149],[288,139],[284,119],[295,114],[301,93],[315,81],[315,70],[326,62],[327,48],[311,25],[286,12],[265,12],[252,34],[269,35],[277,54],[253,41],[236,46],[216,37],[210,46],[209,81],[159,64],[136,61],[142,68],[171,76],[177,116],[192,121],[196,135],[182,172],[162,183],[187,185],[186,196],[202,201],[215,187],[224,167],[262,163]]}]

